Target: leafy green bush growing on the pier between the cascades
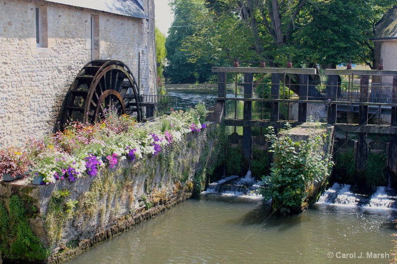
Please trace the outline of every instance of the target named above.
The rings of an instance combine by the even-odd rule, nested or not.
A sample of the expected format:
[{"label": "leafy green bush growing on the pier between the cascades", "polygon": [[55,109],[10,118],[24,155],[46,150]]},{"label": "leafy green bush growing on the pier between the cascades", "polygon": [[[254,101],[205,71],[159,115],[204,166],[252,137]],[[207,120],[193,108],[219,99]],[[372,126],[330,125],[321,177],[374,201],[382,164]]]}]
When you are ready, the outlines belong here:
[{"label": "leafy green bush growing on the pier between the cascades", "polygon": [[[280,130],[281,134],[283,132],[285,130]],[[273,211],[285,214],[301,207],[308,195],[305,191],[307,185],[312,181],[324,181],[333,162],[321,151],[326,137],[315,136],[307,141],[294,142],[286,135],[277,137],[270,129],[267,138],[271,142],[270,152],[273,152],[274,161],[270,175],[264,177],[269,187],[262,189],[262,195],[266,200],[272,199]]]}]

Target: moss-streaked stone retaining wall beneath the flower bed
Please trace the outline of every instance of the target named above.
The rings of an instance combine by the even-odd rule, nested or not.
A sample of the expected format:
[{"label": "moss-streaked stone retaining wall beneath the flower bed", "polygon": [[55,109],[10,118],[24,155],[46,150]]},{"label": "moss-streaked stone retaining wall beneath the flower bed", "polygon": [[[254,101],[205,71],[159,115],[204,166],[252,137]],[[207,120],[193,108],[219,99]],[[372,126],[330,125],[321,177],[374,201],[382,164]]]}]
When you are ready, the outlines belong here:
[{"label": "moss-streaked stone retaining wall beneath the flower bed", "polygon": [[[219,131],[221,126],[213,124],[186,135],[181,143],[157,156],[124,160],[94,178],[78,178],[73,183],[36,186],[26,180],[0,182],[2,259],[27,262],[33,260],[28,254],[41,256],[32,250],[20,256],[11,254],[14,237],[1,244],[6,235],[1,234],[2,220],[24,221],[15,216],[15,201],[22,202],[26,221],[43,242],[43,250],[51,254],[42,262],[60,263],[201,192],[207,166],[213,171],[210,166],[219,153]],[[11,225],[7,232],[13,232]]]}]

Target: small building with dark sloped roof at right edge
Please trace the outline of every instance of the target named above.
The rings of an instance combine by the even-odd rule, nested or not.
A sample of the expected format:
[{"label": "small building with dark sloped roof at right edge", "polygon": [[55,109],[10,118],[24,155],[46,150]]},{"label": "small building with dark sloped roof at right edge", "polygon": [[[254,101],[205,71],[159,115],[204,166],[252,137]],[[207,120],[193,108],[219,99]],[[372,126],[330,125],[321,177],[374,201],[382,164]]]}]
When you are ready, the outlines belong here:
[{"label": "small building with dark sloped roof at right edge", "polygon": [[385,70],[397,70],[397,5],[389,9],[383,18],[376,23],[375,65],[381,63]]}]

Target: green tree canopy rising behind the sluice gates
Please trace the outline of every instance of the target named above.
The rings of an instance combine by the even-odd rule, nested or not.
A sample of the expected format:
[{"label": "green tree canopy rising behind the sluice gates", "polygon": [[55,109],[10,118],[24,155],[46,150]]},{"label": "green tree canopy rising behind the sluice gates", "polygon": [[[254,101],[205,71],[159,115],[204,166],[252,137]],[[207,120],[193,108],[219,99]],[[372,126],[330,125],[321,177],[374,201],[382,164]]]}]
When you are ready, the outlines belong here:
[{"label": "green tree canopy rising behind the sluice gates", "polygon": [[397,0],[171,0],[166,42],[174,82],[208,80],[212,66],[374,65],[375,23]]}]

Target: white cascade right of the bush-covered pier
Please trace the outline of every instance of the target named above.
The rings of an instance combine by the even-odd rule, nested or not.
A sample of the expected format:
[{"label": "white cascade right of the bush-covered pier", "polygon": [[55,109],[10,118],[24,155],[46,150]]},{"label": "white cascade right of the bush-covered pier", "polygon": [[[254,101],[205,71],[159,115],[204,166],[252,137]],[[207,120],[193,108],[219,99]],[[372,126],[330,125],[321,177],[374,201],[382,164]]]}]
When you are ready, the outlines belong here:
[{"label": "white cascade right of the bush-covered pier", "polygon": [[360,194],[351,191],[351,185],[334,183],[319,198],[318,204],[329,204],[337,206],[360,206],[366,208],[397,209],[397,197],[393,190],[384,186],[377,187],[370,194]]}]

